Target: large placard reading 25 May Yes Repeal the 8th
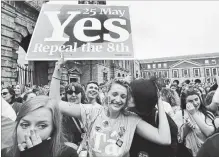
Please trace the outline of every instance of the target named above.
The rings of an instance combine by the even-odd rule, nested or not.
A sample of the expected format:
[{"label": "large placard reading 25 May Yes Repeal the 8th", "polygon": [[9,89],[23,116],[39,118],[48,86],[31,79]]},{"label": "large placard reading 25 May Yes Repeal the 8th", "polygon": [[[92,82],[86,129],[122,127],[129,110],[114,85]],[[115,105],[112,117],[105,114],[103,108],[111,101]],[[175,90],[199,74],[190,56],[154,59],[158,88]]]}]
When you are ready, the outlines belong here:
[{"label": "large placard reading 25 May Yes Repeal the 8th", "polygon": [[27,60],[134,58],[128,6],[44,4]]}]

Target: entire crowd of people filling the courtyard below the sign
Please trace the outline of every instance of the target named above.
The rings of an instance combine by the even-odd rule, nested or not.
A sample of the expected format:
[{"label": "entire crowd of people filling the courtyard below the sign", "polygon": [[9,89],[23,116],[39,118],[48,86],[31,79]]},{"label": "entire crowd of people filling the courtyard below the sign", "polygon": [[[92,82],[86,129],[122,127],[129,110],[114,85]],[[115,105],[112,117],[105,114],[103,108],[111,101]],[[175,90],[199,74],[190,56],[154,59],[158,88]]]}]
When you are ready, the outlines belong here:
[{"label": "entire crowd of people filling the courtyard below the sign", "polygon": [[63,86],[63,64],[50,85],[2,88],[3,157],[219,156],[218,76],[210,87],[155,78]]}]

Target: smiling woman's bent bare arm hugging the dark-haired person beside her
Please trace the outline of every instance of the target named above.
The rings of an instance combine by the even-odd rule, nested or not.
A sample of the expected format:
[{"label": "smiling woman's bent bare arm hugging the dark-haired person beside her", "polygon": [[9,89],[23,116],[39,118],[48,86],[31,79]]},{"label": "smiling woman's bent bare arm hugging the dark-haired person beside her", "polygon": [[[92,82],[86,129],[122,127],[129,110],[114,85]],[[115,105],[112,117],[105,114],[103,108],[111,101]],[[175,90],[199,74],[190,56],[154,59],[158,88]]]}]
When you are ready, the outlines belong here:
[{"label": "smiling woman's bent bare arm hugging the dark-haired person beside her", "polygon": [[169,145],[171,144],[170,127],[161,98],[158,100],[158,114],[158,128],[155,128],[147,122],[141,120],[137,125],[136,132],[143,138],[154,143]]}]

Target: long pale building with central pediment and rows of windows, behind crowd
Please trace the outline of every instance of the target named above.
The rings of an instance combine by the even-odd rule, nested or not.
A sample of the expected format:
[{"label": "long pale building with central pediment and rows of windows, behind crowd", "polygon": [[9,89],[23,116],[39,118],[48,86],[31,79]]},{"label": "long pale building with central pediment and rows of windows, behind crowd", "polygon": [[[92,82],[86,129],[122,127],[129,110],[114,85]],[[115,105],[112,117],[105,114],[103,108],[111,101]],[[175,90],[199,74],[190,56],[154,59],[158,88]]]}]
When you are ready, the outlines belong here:
[{"label": "long pale building with central pediment and rows of windows, behind crowd", "polygon": [[211,83],[219,75],[219,53],[142,60],[141,74],[144,78],[156,75],[171,82],[200,79]]}]

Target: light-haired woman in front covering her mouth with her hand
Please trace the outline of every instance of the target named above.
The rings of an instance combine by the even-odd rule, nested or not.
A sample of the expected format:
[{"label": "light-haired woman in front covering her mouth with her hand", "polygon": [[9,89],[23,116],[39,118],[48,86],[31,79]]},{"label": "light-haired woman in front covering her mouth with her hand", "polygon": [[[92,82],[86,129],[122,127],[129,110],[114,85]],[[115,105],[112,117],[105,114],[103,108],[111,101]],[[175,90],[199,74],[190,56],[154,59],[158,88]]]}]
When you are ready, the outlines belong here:
[{"label": "light-haired woman in front covering her mouth with her hand", "polygon": [[73,157],[64,145],[61,113],[55,101],[37,96],[26,101],[17,115],[13,144],[2,150],[3,157]]}]

